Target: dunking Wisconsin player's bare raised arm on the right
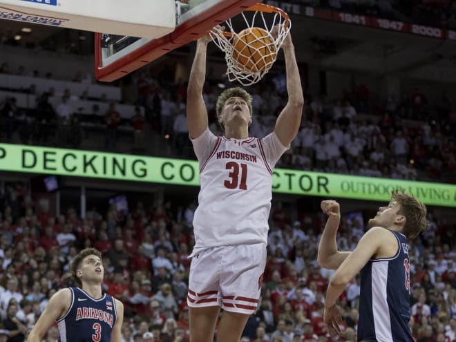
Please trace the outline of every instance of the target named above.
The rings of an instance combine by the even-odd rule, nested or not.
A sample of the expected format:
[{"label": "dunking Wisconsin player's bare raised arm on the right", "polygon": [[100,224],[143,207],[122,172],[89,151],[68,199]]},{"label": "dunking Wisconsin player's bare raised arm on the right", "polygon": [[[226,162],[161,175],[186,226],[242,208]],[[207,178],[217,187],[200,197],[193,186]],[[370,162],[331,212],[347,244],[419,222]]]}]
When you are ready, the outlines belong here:
[{"label": "dunking Wisconsin player's bare raised arm on the right", "polygon": [[281,114],[278,115],[274,132],[283,146],[288,146],[296,137],[299,126],[301,126],[304,96],[290,32],[283,41],[282,49],[285,55],[288,102]]}]

